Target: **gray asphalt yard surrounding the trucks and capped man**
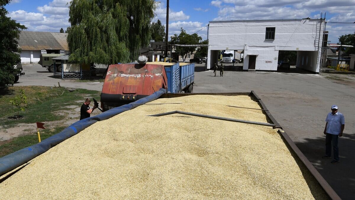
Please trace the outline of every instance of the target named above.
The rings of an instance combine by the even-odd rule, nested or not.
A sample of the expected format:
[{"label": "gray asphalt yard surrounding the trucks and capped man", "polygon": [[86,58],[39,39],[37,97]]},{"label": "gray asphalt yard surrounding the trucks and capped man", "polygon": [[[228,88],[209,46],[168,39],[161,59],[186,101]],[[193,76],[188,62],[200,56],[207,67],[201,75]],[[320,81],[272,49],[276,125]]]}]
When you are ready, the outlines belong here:
[{"label": "gray asphalt yard surrounding the trucks and capped man", "polygon": [[[241,65],[241,64],[239,64]],[[355,196],[355,83],[334,83],[320,75],[239,72],[226,67],[223,77],[196,67],[195,93],[256,91],[284,130],[343,199]],[[23,65],[26,75],[15,85],[45,85],[101,90],[103,83],[55,79],[38,64]],[[296,71],[295,69],[291,70]],[[299,72],[299,71],[296,71]],[[333,80],[334,81],[334,80]],[[331,164],[324,155],[325,117],[332,104],[345,116],[344,136],[339,138],[340,163]],[[265,155],[267,156],[267,155]]]}]

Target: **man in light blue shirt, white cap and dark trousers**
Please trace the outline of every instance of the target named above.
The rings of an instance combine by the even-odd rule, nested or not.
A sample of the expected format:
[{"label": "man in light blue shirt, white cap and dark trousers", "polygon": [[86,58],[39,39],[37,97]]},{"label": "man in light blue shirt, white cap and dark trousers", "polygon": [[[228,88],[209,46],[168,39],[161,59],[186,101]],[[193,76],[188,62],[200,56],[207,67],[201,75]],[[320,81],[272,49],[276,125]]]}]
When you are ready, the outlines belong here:
[{"label": "man in light blue shirt, white cap and dark trousers", "polygon": [[338,137],[343,136],[345,120],[343,114],[338,112],[338,106],[332,105],[332,112],[329,112],[326,118],[326,127],[324,135],[326,135],[326,156],[322,158],[332,158],[332,146],[334,159],[331,163],[339,163]]}]

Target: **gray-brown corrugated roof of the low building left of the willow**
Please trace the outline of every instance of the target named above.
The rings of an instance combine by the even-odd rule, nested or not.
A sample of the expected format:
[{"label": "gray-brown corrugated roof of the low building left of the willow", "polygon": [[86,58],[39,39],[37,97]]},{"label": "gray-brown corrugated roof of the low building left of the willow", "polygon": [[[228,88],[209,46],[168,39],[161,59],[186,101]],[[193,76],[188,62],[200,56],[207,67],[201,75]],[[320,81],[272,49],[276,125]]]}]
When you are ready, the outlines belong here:
[{"label": "gray-brown corrugated roof of the low building left of the willow", "polygon": [[67,35],[68,33],[21,31],[18,46],[22,50],[54,49],[68,51]]}]

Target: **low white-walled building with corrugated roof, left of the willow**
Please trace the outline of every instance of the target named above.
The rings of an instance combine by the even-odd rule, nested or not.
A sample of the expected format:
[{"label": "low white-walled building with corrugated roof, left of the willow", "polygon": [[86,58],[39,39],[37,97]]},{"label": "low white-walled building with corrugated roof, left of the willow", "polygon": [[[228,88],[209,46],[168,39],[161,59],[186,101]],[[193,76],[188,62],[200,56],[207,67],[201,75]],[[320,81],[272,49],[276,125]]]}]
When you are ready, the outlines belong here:
[{"label": "low white-walled building with corrugated roof, left of the willow", "polygon": [[41,53],[69,53],[68,33],[21,31],[21,63],[38,63]]}]

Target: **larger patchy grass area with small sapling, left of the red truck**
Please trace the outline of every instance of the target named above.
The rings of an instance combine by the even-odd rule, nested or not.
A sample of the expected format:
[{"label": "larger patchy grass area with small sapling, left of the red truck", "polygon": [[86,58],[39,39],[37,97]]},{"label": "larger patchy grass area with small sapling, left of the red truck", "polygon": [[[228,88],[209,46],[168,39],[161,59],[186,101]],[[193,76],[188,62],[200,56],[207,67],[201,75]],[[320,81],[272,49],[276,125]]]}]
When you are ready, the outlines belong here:
[{"label": "larger patchy grass area with small sapling, left of the red truck", "polygon": [[[17,110],[10,103],[10,99],[14,98],[18,90],[24,89],[28,100],[28,107],[25,111],[20,111],[20,115],[24,117],[19,120],[7,119],[7,117],[15,115]],[[8,91],[0,94],[0,104],[4,110],[0,113],[2,127],[8,128],[16,126],[18,123],[34,123],[44,121],[58,121],[65,118],[65,115],[58,115],[55,112],[68,110],[65,106],[77,105],[81,103],[76,101],[91,96],[100,99],[100,92],[86,89],[75,89],[70,92],[64,88],[53,88],[44,86],[14,86]]]}]

